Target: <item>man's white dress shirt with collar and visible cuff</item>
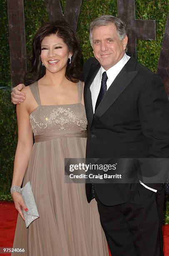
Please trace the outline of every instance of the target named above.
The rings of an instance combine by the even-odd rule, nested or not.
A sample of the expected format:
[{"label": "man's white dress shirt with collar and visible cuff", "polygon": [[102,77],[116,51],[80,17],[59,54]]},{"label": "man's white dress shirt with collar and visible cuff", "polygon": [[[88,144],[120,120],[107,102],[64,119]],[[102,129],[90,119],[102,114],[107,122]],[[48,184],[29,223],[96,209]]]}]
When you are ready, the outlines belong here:
[{"label": "man's white dress shirt with collar and visible cuff", "polygon": [[[122,59],[119,60],[119,62],[117,62],[117,64],[115,64],[113,67],[111,67],[110,69],[108,69],[107,71],[101,66],[99,71],[97,72],[97,75],[95,76],[91,86],[90,86],[90,91],[92,94],[92,105],[93,105],[93,113],[95,110],[95,105],[97,102],[97,97],[99,95],[99,91],[100,91],[100,87],[101,87],[101,81],[102,81],[102,74],[104,71],[106,71],[107,74],[107,90],[109,89],[110,85],[112,84],[112,82],[114,81],[114,79],[117,77],[117,75],[119,74],[119,72],[122,70],[122,68],[124,67],[124,65],[127,63],[127,61],[130,59],[130,56],[128,56],[126,53],[124,54],[124,56],[122,57]],[[139,181],[140,184],[142,184],[145,188],[152,190],[153,192],[157,192],[156,189],[153,189],[151,187],[146,186],[144,183],[142,183],[141,181]]]}]

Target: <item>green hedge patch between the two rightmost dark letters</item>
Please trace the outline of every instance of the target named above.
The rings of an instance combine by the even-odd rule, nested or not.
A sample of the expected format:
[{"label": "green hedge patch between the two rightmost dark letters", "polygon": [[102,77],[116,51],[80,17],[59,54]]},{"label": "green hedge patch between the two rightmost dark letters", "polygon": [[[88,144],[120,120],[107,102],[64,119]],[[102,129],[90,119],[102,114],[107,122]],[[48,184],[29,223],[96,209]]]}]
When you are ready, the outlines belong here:
[{"label": "green hedge patch between the two rightmost dark letters", "polygon": [[137,40],[138,61],[156,73],[169,12],[169,0],[136,0],[135,3],[136,19],[156,20],[156,40]]}]

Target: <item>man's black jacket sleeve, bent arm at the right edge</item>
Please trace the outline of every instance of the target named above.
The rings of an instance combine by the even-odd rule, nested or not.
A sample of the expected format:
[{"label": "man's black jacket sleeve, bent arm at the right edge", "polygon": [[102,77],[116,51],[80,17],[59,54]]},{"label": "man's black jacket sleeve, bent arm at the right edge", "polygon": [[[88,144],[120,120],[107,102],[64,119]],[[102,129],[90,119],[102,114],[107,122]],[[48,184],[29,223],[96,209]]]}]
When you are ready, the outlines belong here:
[{"label": "man's black jacket sleeve, bent arm at the right edge", "polygon": [[148,142],[147,159],[142,161],[142,181],[159,189],[169,172],[169,100],[162,79],[149,76],[139,98],[139,118]]}]

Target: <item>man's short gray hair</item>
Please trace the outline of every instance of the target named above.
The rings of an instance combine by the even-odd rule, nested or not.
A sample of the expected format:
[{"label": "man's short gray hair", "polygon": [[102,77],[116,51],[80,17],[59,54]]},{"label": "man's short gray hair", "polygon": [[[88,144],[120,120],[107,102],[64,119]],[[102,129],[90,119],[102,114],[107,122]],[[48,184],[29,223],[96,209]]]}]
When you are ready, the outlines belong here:
[{"label": "man's short gray hair", "polygon": [[108,24],[114,24],[117,28],[117,34],[120,38],[120,40],[123,40],[125,36],[127,36],[127,28],[126,28],[126,24],[120,19],[120,18],[116,18],[112,15],[103,15],[100,16],[98,18],[96,18],[95,20],[93,20],[90,23],[89,26],[89,39],[90,39],[90,43],[93,43],[92,40],[92,31],[94,28],[99,28],[101,26],[107,26]]}]

